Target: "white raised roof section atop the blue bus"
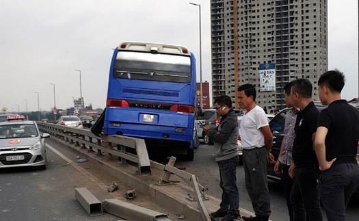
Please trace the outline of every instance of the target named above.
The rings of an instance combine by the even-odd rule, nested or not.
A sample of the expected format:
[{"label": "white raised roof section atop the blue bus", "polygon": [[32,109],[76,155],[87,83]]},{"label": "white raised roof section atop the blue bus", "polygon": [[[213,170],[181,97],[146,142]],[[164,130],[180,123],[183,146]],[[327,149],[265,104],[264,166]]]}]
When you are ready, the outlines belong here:
[{"label": "white raised roof section atop the blue bus", "polygon": [[118,51],[148,51],[152,53],[171,53],[178,55],[191,54],[189,50],[183,46],[146,42],[123,42],[118,47]]}]

